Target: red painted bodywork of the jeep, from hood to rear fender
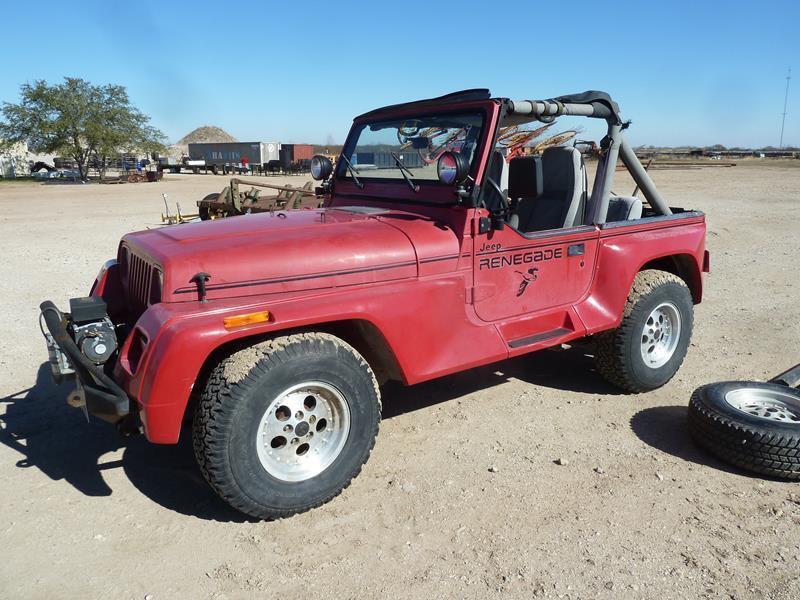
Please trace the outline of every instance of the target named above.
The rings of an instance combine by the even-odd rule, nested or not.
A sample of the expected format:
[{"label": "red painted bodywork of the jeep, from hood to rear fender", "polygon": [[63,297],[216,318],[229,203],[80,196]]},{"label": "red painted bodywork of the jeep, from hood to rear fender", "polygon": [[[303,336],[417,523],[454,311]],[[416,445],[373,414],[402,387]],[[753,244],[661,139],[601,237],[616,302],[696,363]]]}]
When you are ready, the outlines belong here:
[{"label": "red painted bodywork of the jeep, from hood to rear fender", "polygon": [[[483,110],[494,131],[496,101],[464,107]],[[490,142],[481,142],[473,164],[478,183]],[[702,297],[708,259],[700,213],[529,236],[510,227],[480,234],[487,211],[454,205],[452,188],[422,186],[414,194],[400,180],[380,184],[378,196],[377,185],[359,190],[334,180],[324,209],[123,238],[120,256],[130,248],[163,273],[162,301],[134,315],[114,370],[150,441],[177,442],[204,364],[238,339],[368,322],[399,376],[414,384],[615,327],[636,273],[664,257],[681,257],[695,301]],[[191,283],[198,272],[211,275],[206,302]],[[119,277],[107,273],[94,293],[118,306]],[[227,316],[265,310],[267,323],[223,326]]]}]

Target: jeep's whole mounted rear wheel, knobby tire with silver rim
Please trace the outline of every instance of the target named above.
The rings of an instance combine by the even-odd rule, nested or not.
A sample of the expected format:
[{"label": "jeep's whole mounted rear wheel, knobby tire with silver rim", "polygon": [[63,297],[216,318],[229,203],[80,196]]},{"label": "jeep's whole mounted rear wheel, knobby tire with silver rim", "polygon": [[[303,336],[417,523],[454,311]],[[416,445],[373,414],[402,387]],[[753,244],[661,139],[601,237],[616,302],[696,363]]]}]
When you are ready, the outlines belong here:
[{"label": "jeep's whole mounted rear wheel, knobby tire with silver rim", "polygon": [[665,271],[633,280],[619,327],[595,336],[595,366],[629,392],[656,389],[678,371],[692,337],[694,305],[686,283]]}]

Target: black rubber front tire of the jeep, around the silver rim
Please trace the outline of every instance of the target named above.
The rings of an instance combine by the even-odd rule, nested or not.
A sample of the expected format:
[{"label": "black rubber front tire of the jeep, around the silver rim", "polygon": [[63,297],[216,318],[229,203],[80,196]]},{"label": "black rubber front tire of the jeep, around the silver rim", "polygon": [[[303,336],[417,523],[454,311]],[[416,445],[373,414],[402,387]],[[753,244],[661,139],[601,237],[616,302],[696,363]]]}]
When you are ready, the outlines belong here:
[{"label": "black rubber front tire of the jeep, around the silver rim", "polygon": [[[278,416],[270,405],[294,386],[304,389],[307,382],[322,382],[341,393],[348,406],[349,429],[327,468],[288,481],[267,470],[257,444],[266,448],[262,429],[271,420],[264,425],[262,419]],[[331,500],[358,475],[375,444],[380,413],[375,375],[350,345],[324,333],[279,337],[241,350],[213,370],[195,414],[195,456],[208,483],[233,508],[259,519],[288,517]],[[303,432],[307,430],[308,425],[303,426]],[[287,435],[300,431],[295,423],[294,433]],[[315,443],[328,430],[322,431]],[[301,447],[286,449],[297,448],[300,456]],[[304,452],[311,457],[316,450],[312,447],[309,452],[306,445]],[[285,462],[296,460],[291,453],[282,456]]]}]

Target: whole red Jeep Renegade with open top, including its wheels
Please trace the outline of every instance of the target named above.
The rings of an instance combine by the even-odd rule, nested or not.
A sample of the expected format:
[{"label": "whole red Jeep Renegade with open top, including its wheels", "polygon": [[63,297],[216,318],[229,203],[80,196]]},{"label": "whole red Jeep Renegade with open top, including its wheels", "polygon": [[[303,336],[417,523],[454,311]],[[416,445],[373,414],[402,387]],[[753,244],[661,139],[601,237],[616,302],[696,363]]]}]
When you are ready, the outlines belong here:
[{"label": "whole red Jeep Renegade with open top, including its wheels", "polygon": [[[603,119],[587,189],[575,147],[507,160],[501,128]],[[686,354],[708,270],[705,217],[671,208],[603,92],[543,101],[468,90],[355,119],[312,161],[324,208],[126,235],[90,296],[41,305],[74,406],[194,448],[254,517],[336,496],[378,432],[379,384],[407,385],[591,337],[634,392]],[[611,190],[618,160],[646,205]]]}]

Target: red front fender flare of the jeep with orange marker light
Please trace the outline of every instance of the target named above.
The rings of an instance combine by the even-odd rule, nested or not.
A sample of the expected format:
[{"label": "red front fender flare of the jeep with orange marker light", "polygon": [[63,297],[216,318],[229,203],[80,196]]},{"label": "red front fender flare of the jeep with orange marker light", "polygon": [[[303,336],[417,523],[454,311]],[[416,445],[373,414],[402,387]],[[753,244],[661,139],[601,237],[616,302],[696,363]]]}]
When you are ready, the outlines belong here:
[{"label": "red front fender flare of the jeep with orange marker light", "polygon": [[[139,404],[150,441],[174,443],[194,381],[208,355],[223,343],[320,323],[360,319],[375,325],[413,384],[500,360],[508,355],[496,328],[467,314],[463,273],[354,286],[288,300],[156,304],[137,327],[151,340],[136,373],[121,359],[115,378]],[[211,304],[211,303],[209,303]],[[226,331],[225,316],[268,309],[273,321]],[[130,338],[129,338],[130,339]],[[122,355],[128,351],[128,343]]]}]

